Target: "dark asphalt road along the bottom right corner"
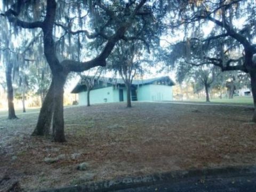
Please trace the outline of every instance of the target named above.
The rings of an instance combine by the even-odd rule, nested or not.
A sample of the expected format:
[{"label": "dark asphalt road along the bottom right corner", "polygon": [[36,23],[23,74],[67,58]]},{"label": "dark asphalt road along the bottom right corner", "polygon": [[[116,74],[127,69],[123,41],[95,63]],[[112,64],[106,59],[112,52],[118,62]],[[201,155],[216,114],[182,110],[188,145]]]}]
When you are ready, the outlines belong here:
[{"label": "dark asphalt road along the bottom right corner", "polygon": [[222,175],[221,177],[208,178],[189,178],[172,183],[161,183],[157,185],[144,186],[138,188],[127,188],[123,190],[115,190],[115,192],[185,192],[185,191],[204,191],[204,192],[220,192],[220,191],[256,191],[256,173],[249,175],[241,175],[231,177]]}]

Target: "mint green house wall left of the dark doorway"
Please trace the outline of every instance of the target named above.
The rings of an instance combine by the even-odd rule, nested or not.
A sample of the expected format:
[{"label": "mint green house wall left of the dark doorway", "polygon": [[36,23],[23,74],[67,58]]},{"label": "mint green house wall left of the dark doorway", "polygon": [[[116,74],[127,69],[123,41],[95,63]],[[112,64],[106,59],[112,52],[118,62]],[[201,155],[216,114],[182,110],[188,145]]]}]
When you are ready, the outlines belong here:
[{"label": "mint green house wall left of the dark doorway", "polygon": [[[124,101],[127,100],[126,90],[123,90]],[[114,86],[104,87],[90,91],[90,103],[119,102],[119,90]],[[78,93],[78,105],[87,105],[87,91]]]}]

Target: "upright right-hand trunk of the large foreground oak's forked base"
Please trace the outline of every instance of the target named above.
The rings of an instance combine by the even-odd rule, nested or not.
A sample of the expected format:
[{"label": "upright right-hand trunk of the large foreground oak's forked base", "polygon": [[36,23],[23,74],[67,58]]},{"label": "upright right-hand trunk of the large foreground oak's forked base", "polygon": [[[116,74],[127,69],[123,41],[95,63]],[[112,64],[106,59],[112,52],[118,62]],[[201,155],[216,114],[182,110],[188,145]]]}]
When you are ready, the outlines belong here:
[{"label": "upright right-hand trunk of the large foreground oak's forked base", "polygon": [[65,142],[64,117],[63,117],[63,93],[67,75],[64,73],[54,74],[54,109],[53,109],[53,140]]}]

